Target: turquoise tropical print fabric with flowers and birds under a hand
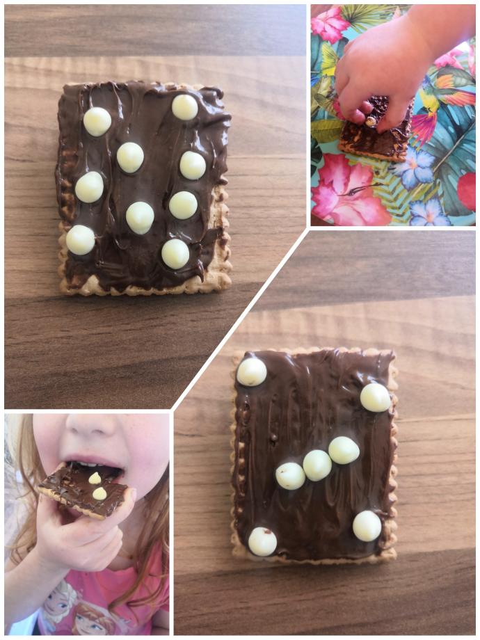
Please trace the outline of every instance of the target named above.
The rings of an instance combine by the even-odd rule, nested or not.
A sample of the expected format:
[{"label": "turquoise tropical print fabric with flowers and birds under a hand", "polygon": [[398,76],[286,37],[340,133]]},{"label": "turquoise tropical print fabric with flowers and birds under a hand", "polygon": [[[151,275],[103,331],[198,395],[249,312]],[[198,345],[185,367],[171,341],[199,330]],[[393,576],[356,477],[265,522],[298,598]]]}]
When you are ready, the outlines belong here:
[{"label": "turquoise tropical print fabric with flowers and birds under a hand", "polygon": [[335,66],[349,40],[408,5],[333,6],[312,17],[312,214],[335,225],[475,222],[475,41],[438,58],[417,95],[406,160],[338,150]]}]

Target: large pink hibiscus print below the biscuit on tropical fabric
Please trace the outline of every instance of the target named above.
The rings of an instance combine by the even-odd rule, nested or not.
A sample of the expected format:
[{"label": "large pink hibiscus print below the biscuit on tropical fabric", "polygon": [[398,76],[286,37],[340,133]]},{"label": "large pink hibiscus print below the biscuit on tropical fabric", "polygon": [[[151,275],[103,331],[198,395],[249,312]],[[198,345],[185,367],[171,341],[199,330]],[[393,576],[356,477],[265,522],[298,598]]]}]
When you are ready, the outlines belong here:
[{"label": "large pink hibiscus print below the biscuit on tropical fabric", "polygon": [[342,154],[326,153],[319,186],[312,187],[312,214],[335,225],[387,225],[392,216],[374,196],[374,173],[361,164],[349,165]]}]

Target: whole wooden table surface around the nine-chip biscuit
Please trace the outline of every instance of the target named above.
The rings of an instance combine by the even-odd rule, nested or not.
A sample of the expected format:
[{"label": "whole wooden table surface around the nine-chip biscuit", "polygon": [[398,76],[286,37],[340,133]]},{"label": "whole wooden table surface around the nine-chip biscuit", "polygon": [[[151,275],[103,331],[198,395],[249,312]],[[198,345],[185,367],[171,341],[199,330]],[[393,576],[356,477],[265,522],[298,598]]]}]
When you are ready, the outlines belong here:
[{"label": "whole wooden table surface around the nine-chip biscuit", "polygon": [[[6,408],[165,408],[305,227],[305,7],[6,6]],[[54,168],[65,83],[221,86],[233,286],[66,298]]]}]

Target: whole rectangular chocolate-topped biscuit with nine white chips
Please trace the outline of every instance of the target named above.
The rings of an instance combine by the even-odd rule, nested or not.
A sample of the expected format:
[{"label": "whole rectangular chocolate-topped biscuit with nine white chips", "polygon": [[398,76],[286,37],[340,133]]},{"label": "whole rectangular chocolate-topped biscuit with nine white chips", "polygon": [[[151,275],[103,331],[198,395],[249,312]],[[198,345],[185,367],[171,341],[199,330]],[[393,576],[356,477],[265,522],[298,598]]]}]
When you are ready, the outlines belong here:
[{"label": "whole rectangular chocolate-topped biscuit with nine white chips", "polygon": [[[63,88],[55,177],[64,294],[191,294],[230,286],[224,174],[231,116],[222,97],[218,88],[142,81]],[[180,110],[177,98],[186,101]],[[92,125],[94,108],[100,124]],[[86,176],[97,180],[88,195],[85,181],[79,186]],[[175,209],[180,192],[189,202],[182,209],[177,198]]]}]

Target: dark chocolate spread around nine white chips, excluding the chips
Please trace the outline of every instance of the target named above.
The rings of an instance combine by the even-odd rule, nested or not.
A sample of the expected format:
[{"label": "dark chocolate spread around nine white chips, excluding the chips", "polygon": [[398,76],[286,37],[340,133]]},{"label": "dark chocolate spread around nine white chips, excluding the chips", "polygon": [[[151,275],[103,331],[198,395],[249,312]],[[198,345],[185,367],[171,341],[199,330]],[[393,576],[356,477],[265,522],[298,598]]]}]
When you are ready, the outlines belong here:
[{"label": "dark chocolate spread around nine white chips, excluding the chips", "polygon": [[[127,287],[163,290],[195,276],[203,281],[216,243],[224,247],[228,239],[223,226],[211,219],[212,200],[223,199],[222,186],[227,183],[223,175],[231,116],[225,113],[222,91],[128,81],[67,85],[63,92],[55,172],[63,230],[80,224],[95,233],[90,253],[67,252],[62,273],[67,292],[81,289],[90,275],[97,276],[106,293],[122,293]],[[198,104],[192,120],[173,115],[173,99],[181,94],[191,95]],[[83,126],[83,115],[93,106],[106,109],[112,120],[99,137]],[[144,152],[141,167],[131,174],[116,160],[118,148],[127,142],[140,145]],[[189,180],[180,173],[180,158],[186,151],[205,159],[207,169],[200,179]],[[92,204],[81,202],[74,193],[77,180],[88,171],[97,171],[104,181],[102,197]],[[178,191],[190,191],[198,201],[196,213],[187,220],[178,220],[168,209]],[[125,218],[129,205],[138,201],[154,210],[152,227],[143,235],[133,232]],[[161,259],[161,248],[169,239],[180,239],[189,247],[189,261],[180,269],[170,269]]]}]

